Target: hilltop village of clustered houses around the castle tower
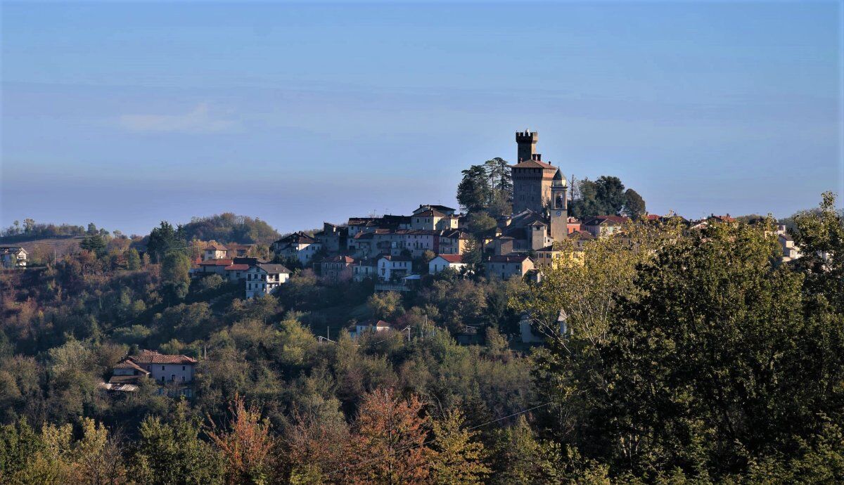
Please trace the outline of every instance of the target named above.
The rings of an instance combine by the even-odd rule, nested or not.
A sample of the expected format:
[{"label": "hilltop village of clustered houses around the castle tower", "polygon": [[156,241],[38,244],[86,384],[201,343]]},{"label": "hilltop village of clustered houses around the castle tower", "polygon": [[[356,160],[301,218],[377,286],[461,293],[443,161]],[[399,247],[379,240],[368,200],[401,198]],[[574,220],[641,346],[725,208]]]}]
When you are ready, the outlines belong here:
[{"label": "hilltop village of clustered houses around the castle tower", "polygon": [[[544,267],[562,257],[563,241],[582,245],[632,222],[615,214],[571,217],[568,181],[560,167],[537,153],[538,132],[516,132],[516,143],[518,161],[509,166],[511,213],[497,218],[495,227],[483,234],[469,234],[467,215],[453,207],[420,204],[408,215],[350,217],[346,224],[324,223],[314,234],[286,235],[271,245],[276,263],[247,257],[249,245],[214,243],[203,249],[192,274],[217,273],[228,281],[241,281],[246,298],[273,294],[288,281],[293,266],[312,267],[334,282],[372,278],[376,291],[405,292],[422,274],[448,269],[465,273],[473,267],[482,267],[488,278],[538,280]],[[694,222],[644,214],[641,221],[659,224],[670,218],[690,228],[735,221],[729,214]],[[784,259],[799,257],[784,227],[778,235]]]}]

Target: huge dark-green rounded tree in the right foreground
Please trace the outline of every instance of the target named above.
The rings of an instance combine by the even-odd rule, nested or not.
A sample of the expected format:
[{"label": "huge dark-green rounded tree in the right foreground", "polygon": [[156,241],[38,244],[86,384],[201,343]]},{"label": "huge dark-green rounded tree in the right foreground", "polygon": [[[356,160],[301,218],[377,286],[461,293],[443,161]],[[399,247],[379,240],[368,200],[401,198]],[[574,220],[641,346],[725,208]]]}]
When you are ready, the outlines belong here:
[{"label": "huge dark-green rounded tree in the right foreground", "polygon": [[802,275],[774,254],[764,229],[718,224],[637,269],[598,346],[607,385],[581,388],[615,464],[717,478],[840,418],[844,317],[807,305]]}]

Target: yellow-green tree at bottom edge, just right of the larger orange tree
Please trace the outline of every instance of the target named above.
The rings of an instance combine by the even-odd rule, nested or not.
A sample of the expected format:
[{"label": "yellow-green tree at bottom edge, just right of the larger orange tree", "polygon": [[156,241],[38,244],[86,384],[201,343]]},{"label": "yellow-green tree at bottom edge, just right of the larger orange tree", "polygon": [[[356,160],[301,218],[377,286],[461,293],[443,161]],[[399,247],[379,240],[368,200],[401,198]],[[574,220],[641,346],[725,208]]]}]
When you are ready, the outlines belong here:
[{"label": "yellow-green tree at bottom edge, just right of the larger orange tree", "polygon": [[431,475],[439,485],[483,483],[490,474],[484,463],[484,445],[475,440],[477,432],[463,428],[463,413],[458,409],[446,412],[435,421]]}]

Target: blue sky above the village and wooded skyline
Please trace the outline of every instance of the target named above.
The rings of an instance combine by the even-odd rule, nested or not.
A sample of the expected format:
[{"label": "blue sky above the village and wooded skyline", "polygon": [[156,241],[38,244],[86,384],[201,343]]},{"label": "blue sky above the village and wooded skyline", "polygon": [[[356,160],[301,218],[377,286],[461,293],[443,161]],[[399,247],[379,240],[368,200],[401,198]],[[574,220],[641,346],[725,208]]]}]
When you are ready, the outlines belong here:
[{"label": "blue sky above the village and wooded skyline", "polygon": [[0,224],[456,206],[538,131],[650,213],[844,193],[840,2],[0,3]]}]

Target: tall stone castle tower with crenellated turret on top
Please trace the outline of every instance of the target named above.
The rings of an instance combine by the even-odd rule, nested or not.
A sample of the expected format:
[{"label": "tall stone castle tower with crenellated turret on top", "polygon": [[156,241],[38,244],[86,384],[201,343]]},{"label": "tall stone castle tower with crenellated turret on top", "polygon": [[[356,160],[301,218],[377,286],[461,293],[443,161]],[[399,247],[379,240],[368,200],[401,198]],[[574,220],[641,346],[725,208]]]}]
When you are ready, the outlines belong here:
[{"label": "tall stone castle tower with crenellated turret on top", "polygon": [[513,213],[530,209],[544,213],[551,202],[551,181],[557,172],[552,164],[536,153],[537,132],[516,132],[519,162],[511,165],[513,178]]}]

